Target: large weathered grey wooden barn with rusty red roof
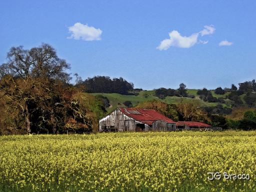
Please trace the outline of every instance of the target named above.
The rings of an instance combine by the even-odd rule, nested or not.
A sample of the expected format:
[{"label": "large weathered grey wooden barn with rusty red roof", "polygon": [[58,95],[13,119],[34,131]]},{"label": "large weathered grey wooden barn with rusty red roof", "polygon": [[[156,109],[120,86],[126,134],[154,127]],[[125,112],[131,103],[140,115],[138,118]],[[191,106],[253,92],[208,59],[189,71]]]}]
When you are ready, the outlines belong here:
[{"label": "large weathered grey wooden barn with rusty red roof", "polygon": [[116,108],[99,120],[99,131],[170,131],[176,122],[153,109]]}]

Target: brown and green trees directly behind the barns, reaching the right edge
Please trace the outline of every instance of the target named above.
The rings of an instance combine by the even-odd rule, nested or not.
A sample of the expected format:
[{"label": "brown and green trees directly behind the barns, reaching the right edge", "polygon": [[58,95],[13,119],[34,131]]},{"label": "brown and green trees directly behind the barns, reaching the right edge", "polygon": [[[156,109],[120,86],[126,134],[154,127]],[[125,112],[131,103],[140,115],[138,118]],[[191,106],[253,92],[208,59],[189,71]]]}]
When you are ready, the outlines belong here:
[{"label": "brown and green trees directly behind the barns, reaching the right edge", "polygon": [[174,121],[200,121],[213,127],[223,129],[256,129],[256,110],[245,111],[241,119],[226,118],[231,108],[217,106],[201,106],[197,101],[181,100],[178,104],[168,104],[160,100],[150,100],[139,103],[138,108],[151,108],[171,118]]}]

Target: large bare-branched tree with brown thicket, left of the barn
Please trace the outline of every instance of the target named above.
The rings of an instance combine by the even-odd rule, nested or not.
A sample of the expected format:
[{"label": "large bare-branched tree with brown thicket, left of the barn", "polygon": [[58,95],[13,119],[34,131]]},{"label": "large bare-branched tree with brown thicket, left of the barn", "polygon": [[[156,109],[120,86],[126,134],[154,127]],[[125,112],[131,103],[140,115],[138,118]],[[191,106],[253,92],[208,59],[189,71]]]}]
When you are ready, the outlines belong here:
[{"label": "large bare-branched tree with brown thicket, left of the barn", "polygon": [[104,103],[69,83],[69,67],[49,44],[12,47],[0,65],[0,133],[96,130]]}]

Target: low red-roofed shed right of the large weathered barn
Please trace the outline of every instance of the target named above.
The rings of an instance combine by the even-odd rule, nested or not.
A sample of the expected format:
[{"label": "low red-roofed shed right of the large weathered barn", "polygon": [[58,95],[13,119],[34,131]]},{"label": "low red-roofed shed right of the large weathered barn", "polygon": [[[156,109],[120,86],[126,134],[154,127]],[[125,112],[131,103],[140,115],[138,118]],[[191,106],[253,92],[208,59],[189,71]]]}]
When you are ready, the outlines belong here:
[{"label": "low red-roofed shed right of the large weathered barn", "polygon": [[197,130],[202,128],[209,128],[212,126],[204,122],[178,121],[176,122],[176,127],[177,127],[177,130]]}]

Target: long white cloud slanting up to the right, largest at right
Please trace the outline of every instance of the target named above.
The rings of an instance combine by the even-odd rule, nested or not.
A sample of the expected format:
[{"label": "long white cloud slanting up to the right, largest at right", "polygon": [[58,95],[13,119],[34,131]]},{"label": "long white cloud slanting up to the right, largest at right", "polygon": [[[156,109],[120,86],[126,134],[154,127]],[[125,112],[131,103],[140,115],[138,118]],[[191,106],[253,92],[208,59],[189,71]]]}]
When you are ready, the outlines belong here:
[{"label": "long white cloud slanting up to the right, largest at right", "polygon": [[[215,31],[213,25],[205,25],[204,29],[191,34],[190,36],[181,36],[180,33],[176,30],[169,32],[169,38],[165,38],[160,42],[156,47],[159,50],[166,50],[170,46],[176,46],[180,48],[189,48],[197,42],[199,34],[201,36],[206,34],[212,34]],[[199,40],[199,43],[206,44],[208,41]]]}]

